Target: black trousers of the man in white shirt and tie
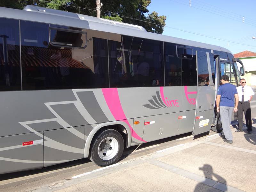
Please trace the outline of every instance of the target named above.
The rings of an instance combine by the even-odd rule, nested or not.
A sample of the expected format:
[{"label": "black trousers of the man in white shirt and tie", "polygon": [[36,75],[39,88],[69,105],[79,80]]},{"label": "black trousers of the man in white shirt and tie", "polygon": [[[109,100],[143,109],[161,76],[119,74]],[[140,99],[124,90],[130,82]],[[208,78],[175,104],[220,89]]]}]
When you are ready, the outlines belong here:
[{"label": "black trousers of the man in white shirt and tie", "polygon": [[243,116],[245,116],[247,131],[252,131],[252,112],[250,102],[243,104],[241,102],[238,102],[237,118],[239,130],[243,129]]}]

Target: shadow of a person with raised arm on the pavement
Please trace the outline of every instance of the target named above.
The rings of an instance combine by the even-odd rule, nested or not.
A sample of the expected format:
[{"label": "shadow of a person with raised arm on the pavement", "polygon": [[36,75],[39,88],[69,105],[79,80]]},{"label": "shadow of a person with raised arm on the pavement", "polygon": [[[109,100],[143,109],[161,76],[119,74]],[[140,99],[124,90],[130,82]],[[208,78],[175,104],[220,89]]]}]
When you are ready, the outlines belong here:
[{"label": "shadow of a person with raised arm on the pavement", "polygon": [[[202,170],[204,172],[204,177],[205,178],[208,178],[208,179],[215,180],[217,182],[223,183],[224,185],[223,185],[223,187],[221,189],[222,191],[227,191],[228,190],[228,188],[227,188],[227,181],[223,177],[221,177],[220,175],[214,173],[211,165],[204,164],[203,167],[199,167],[199,170]],[[196,188],[195,188],[194,192],[204,191],[205,190],[204,182],[207,183],[207,180],[205,179],[205,181],[203,181],[201,183],[198,183],[196,185]]]}]

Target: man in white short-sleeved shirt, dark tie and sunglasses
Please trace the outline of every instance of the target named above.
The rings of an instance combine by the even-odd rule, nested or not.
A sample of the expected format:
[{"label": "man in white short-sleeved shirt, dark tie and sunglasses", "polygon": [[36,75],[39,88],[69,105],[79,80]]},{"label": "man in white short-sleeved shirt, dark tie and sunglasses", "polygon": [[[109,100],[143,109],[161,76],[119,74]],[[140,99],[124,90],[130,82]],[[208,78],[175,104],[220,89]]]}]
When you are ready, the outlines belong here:
[{"label": "man in white short-sleeved shirt, dark tie and sunglasses", "polygon": [[[252,100],[252,95],[254,92],[252,88],[245,85],[245,79],[240,79],[239,87],[236,87],[238,93],[238,106],[237,106],[237,118],[239,130],[236,132],[243,132],[243,116],[245,116],[245,122],[248,133],[252,133],[252,113],[250,101]],[[244,114],[243,114],[244,113]]]}]

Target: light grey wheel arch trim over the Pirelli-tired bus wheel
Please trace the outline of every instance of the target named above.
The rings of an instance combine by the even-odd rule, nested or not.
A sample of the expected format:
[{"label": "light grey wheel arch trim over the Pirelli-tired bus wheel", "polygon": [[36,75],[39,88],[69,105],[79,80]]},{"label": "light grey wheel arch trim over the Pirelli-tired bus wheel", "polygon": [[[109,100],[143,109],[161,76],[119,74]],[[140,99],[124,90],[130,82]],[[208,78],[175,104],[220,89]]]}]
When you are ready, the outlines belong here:
[{"label": "light grey wheel arch trim over the Pirelli-tired bus wheel", "polygon": [[[107,123],[101,123],[98,124],[96,127],[94,127],[92,129],[92,131],[90,132],[90,134],[88,135],[85,145],[84,145],[84,158],[89,157],[89,153],[90,153],[90,147],[92,144],[92,140],[93,137],[95,136],[96,133],[98,133],[98,131],[102,130],[105,131],[107,130],[106,128],[108,126],[113,126],[113,125],[121,125],[124,127],[125,131],[126,131],[126,148],[131,146],[131,142],[132,142],[132,132],[130,130],[130,127],[123,121],[114,121],[114,122],[107,122]],[[111,128],[109,128],[111,129]]]}]

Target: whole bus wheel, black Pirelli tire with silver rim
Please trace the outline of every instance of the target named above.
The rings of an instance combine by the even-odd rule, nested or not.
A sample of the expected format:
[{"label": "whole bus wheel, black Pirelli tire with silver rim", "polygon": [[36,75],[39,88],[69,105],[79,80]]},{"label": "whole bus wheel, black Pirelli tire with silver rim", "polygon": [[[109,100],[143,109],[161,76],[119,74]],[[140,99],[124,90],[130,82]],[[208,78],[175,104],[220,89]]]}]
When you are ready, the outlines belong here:
[{"label": "whole bus wheel, black Pirelli tire with silver rim", "polygon": [[124,151],[124,139],[114,129],[108,129],[100,133],[93,141],[91,149],[91,160],[101,166],[115,164]]}]

